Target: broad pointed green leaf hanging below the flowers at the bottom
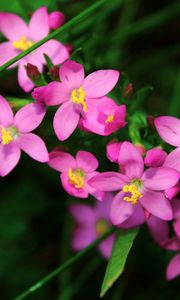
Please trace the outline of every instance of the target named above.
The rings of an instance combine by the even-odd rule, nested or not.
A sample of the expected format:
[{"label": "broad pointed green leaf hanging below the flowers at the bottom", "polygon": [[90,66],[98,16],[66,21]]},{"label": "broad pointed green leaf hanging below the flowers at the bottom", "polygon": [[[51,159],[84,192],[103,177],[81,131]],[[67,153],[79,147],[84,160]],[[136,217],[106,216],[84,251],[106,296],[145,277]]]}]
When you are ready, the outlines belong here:
[{"label": "broad pointed green leaf hanging below the flowers at the bottom", "polygon": [[102,283],[100,297],[103,297],[114,282],[124,271],[128,254],[137,236],[138,228],[119,230],[108,262],[105,277]]}]

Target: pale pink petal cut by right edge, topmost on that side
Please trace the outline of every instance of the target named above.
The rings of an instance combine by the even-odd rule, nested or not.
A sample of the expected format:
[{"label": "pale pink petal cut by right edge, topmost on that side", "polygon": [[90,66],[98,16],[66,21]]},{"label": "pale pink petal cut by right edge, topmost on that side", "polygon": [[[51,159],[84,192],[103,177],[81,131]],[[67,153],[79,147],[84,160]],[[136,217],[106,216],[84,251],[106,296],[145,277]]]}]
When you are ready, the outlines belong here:
[{"label": "pale pink petal cut by right edge, topmost on that side", "polygon": [[180,146],[180,119],[162,116],[155,119],[154,124],[160,137],[168,144]]}]

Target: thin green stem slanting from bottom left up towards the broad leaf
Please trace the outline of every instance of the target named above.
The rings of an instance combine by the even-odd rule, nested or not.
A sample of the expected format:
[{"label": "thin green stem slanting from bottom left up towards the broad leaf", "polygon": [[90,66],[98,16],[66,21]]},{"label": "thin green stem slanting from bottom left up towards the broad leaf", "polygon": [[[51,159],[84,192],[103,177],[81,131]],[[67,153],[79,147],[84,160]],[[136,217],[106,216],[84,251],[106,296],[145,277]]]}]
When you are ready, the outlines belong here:
[{"label": "thin green stem slanting from bottom left up towards the broad leaf", "polygon": [[100,236],[97,240],[95,240],[92,244],[84,248],[82,251],[71,257],[69,260],[67,260],[64,264],[62,264],[60,267],[49,273],[47,276],[42,278],[40,281],[38,281],[36,284],[28,288],[25,292],[14,298],[14,300],[22,300],[28,297],[29,295],[36,292],[38,289],[43,287],[47,282],[49,282],[51,279],[65,271],[67,268],[71,267],[74,263],[76,263],[83,255],[88,253],[90,250],[95,248],[97,245],[100,244],[103,240],[105,240],[108,236],[110,236],[112,233],[114,233],[116,230],[115,227],[110,228],[105,234]]}]

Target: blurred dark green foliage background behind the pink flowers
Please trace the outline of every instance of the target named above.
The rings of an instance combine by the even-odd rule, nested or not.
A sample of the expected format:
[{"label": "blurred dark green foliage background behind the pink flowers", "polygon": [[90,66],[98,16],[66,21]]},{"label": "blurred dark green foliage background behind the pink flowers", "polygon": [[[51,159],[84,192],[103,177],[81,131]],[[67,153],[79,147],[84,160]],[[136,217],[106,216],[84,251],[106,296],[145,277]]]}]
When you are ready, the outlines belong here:
[{"label": "blurred dark green foliage background behind the pink flowers", "polygon": [[[28,20],[35,9],[47,5],[50,11],[61,10],[70,20],[94,2],[8,0],[0,2],[0,11],[11,11]],[[112,96],[128,105],[128,120],[142,141],[150,135],[141,130],[146,114],[180,116],[179,14],[179,1],[107,1],[93,15],[57,37],[73,46],[73,59],[83,63],[87,73],[99,68],[122,71],[122,80]],[[0,39],[3,41],[2,36]],[[129,82],[135,94],[123,99],[123,89]],[[18,87],[14,70],[0,74],[0,94],[30,98]],[[49,150],[61,144],[53,133],[53,113],[54,110],[48,111],[38,129]],[[147,126],[146,122],[143,126]],[[120,140],[127,136],[127,128],[115,135]],[[108,170],[111,166],[105,157],[105,145],[110,139],[77,131],[64,144],[73,154],[80,149],[92,151],[100,160],[100,169]],[[155,141],[159,142],[149,138],[147,147]],[[67,209],[76,199],[63,191],[58,173],[26,155],[22,155],[20,164],[9,176],[1,179],[0,190],[0,299],[6,300],[13,299],[72,255],[72,221]],[[179,279],[166,282],[164,276],[171,256],[172,253],[159,249],[147,230],[142,229],[125,274],[104,299],[178,300]],[[99,299],[105,266],[94,251],[33,294],[32,299]]]}]

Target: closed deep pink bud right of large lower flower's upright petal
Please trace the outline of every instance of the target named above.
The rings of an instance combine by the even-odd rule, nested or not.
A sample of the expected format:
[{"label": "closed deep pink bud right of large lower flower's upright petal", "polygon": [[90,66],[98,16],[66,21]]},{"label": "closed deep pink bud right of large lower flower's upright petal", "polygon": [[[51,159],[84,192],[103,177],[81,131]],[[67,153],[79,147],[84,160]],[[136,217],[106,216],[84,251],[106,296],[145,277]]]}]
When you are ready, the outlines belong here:
[{"label": "closed deep pink bud right of large lower flower's upright petal", "polygon": [[144,163],[147,167],[161,167],[166,156],[167,153],[161,148],[153,148],[146,152]]}]

